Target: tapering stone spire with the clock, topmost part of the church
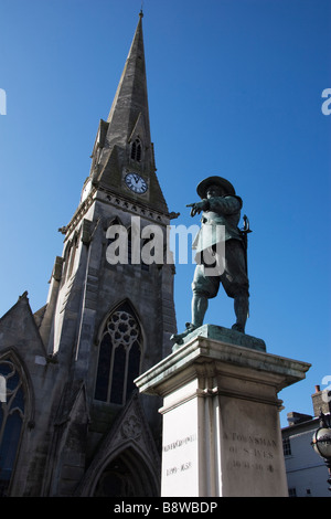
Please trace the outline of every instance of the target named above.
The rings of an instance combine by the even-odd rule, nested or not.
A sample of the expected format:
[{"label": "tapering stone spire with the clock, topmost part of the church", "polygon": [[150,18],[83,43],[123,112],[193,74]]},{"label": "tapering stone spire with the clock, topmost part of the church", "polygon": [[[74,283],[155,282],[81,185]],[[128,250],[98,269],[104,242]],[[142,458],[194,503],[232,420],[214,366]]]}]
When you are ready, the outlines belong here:
[{"label": "tapering stone spire with the clock, topmost part of the church", "polygon": [[[93,182],[116,194],[168,213],[156,176],[142,34],[142,10],[107,120],[100,120],[92,153]],[[140,178],[143,191],[130,186]],[[138,182],[138,180],[137,180]]]}]

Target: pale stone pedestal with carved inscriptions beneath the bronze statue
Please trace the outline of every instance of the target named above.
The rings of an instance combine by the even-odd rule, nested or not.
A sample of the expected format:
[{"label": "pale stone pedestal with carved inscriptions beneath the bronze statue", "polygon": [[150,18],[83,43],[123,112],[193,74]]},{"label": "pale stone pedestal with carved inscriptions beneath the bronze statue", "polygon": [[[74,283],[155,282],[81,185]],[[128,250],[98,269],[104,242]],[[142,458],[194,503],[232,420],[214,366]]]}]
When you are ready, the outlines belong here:
[{"label": "pale stone pedestal with carved inscriptions beneath the bronze statue", "polygon": [[288,495],[278,392],[310,364],[236,333],[205,325],[136,380],[163,398],[162,497]]}]

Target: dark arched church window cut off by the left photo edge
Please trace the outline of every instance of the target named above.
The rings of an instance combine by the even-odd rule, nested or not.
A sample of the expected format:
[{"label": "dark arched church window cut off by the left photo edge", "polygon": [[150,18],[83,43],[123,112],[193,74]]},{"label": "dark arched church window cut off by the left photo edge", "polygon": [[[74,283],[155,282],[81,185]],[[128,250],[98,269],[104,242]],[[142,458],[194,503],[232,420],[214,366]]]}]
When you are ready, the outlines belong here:
[{"label": "dark arched church window cut off by the left photo edge", "polygon": [[2,388],[0,401],[0,496],[6,496],[24,420],[24,392],[21,377],[10,359],[0,361],[0,378]]}]

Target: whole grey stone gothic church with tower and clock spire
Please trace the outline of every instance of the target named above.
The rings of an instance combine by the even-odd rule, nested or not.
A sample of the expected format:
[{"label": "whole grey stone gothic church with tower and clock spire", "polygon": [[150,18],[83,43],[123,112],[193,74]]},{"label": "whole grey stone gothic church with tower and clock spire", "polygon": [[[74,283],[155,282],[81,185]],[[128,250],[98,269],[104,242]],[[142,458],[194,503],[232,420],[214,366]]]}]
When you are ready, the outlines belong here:
[{"label": "whole grey stone gothic church with tower and clock spire", "polygon": [[[171,352],[173,265],[135,244],[167,236],[150,137],[142,13],[46,305],[0,319],[0,495],[158,496],[161,419],[134,380]],[[127,263],[109,261],[125,229]],[[150,229],[150,227],[149,227]],[[138,242],[137,242],[138,240]],[[164,251],[166,254],[166,251]]]}]

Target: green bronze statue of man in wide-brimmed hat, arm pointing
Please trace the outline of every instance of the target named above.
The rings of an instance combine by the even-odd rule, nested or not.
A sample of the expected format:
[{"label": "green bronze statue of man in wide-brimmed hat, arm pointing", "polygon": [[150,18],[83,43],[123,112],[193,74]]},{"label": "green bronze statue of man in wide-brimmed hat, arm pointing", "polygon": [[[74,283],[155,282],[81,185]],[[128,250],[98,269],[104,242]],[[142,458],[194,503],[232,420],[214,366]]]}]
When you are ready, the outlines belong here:
[{"label": "green bronze statue of man in wide-brimmed hat, arm pointing", "polygon": [[203,325],[209,299],[217,295],[220,285],[234,299],[236,322],[232,328],[244,333],[248,315],[247,232],[250,231],[238,229],[243,201],[232,183],[221,177],[203,180],[196,192],[201,201],[188,205],[191,216],[202,213],[201,229],[193,242],[197,264],[192,283],[192,322],[186,324],[184,333],[172,337],[175,340]]}]

